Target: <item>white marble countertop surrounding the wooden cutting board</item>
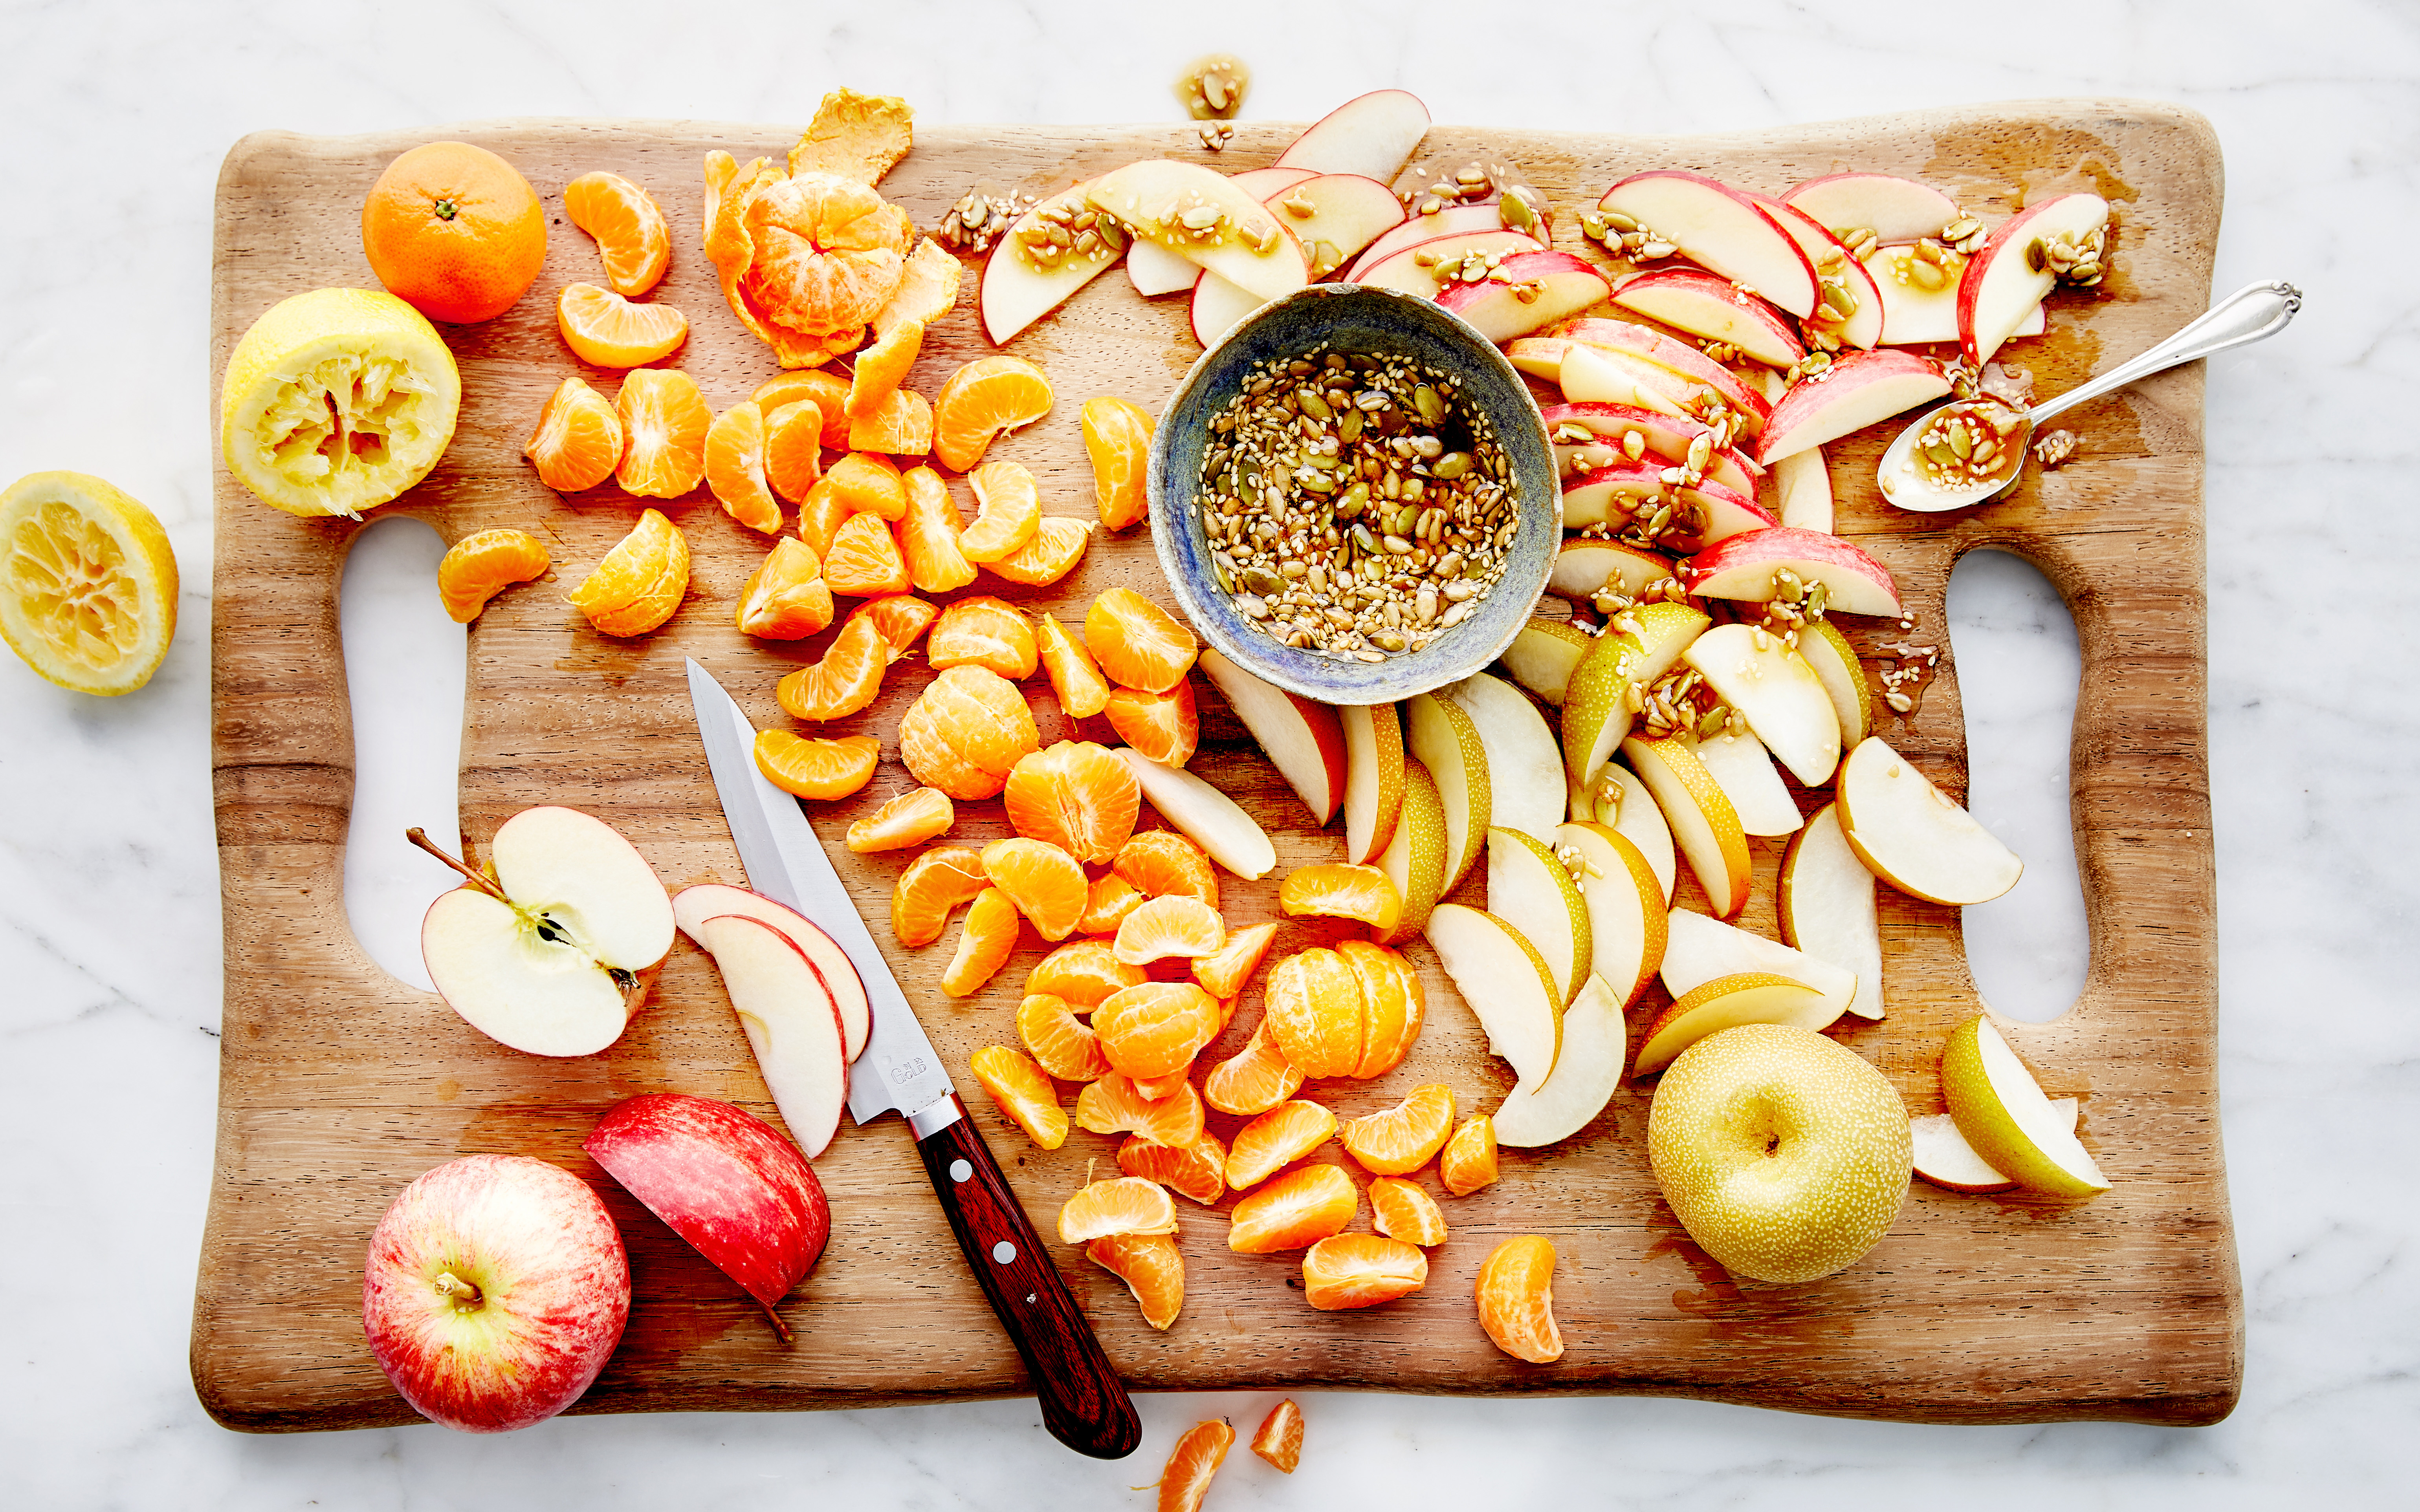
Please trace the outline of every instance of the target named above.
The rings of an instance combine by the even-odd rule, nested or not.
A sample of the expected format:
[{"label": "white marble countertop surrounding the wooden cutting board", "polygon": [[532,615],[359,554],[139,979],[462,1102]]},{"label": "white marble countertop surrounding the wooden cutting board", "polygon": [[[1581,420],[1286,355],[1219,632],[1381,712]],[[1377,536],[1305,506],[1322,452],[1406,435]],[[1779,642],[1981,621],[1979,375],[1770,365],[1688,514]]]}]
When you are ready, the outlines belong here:
[{"label": "white marble countertop surrounding the wooden cutting board", "polygon": [[[624,24],[607,17],[627,15]],[[242,1437],[186,1379],[211,1173],[218,876],[208,784],[211,191],[254,128],[484,116],[803,119],[828,85],[927,121],[1166,119],[1169,73],[1222,46],[1251,114],[1377,85],[1440,121],[1723,131],[2047,94],[2205,111],[2229,157],[2219,288],[2289,276],[2289,336],[2209,373],[2209,706],[2224,941],[2224,1132],[2243,1260],[2243,1406],[2209,1430],[1941,1430],[1684,1401],[1312,1396],[1283,1478],[1237,1452],[1212,1507],[2408,1505],[2420,1413],[2420,1101],[2405,796],[2420,549],[2420,24],[2408,5],[2093,7],[1730,0],[1467,7],[576,2],[10,5],[0,97],[0,474],[99,472],[184,566],[184,627],[140,694],[94,702],[0,658],[0,1502],[12,1507],[1145,1505],[1174,1435],[1263,1398],[1147,1398],[1118,1466],[1055,1449],[1026,1403],[557,1420]],[[1488,19],[1469,19],[1483,15]],[[2006,665],[1977,750],[2035,808],[2064,697],[2038,581],[1967,569],[1960,656]],[[2072,651],[2067,651],[2072,658]],[[2067,663],[2072,665],[2072,660]],[[2030,670],[2028,670],[2030,668]],[[1972,694],[1970,694],[1972,697]],[[2026,767],[2026,762],[2033,762]],[[1994,798],[1999,801],[1999,798]],[[2011,823],[2040,823],[2016,818]],[[2057,844],[2050,823],[2047,844]],[[2052,888],[2052,893],[2057,893]],[[2057,1011],[2081,970],[2047,898],[1987,965]],[[1994,924],[1994,929],[1999,929]],[[2030,934],[2028,934],[2030,931]],[[2018,997],[2026,960],[2042,958]],[[1994,975],[1996,973],[1996,975]],[[2059,977],[2059,973],[2067,973]],[[1996,987],[1999,980],[2013,982]],[[2069,987],[2059,987],[2067,980]],[[2405,1490],[2396,1490],[2403,1485]]]}]

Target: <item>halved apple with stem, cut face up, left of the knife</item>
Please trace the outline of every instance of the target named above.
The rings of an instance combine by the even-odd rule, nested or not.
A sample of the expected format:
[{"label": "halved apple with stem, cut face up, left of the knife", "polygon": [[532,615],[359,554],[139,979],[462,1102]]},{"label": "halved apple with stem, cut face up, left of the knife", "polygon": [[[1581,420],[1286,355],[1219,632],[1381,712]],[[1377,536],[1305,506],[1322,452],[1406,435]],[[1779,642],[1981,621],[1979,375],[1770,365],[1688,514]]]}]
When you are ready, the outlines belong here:
[{"label": "halved apple with stem, cut face up, left of the knife", "polygon": [[494,878],[431,854],[467,878],[421,919],[445,1006],[530,1055],[595,1055],[622,1038],[673,951],[673,900],[646,856],[605,820],[554,806],[496,827]]}]

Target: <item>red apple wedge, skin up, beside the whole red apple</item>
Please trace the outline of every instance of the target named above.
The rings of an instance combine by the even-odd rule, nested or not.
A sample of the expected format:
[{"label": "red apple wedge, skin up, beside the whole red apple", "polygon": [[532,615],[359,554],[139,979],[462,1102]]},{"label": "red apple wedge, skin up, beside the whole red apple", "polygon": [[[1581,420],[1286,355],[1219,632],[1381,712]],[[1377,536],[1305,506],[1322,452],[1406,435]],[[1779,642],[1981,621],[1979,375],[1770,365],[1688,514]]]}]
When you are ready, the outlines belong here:
[{"label": "red apple wedge, skin up, beside the whole red apple", "polygon": [[581,1142],[605,1173],[757,1299],[774,1306],[832,1236],[832,1207],[799,1149],[731,1103],[651,1091],[615,1103]]}]

